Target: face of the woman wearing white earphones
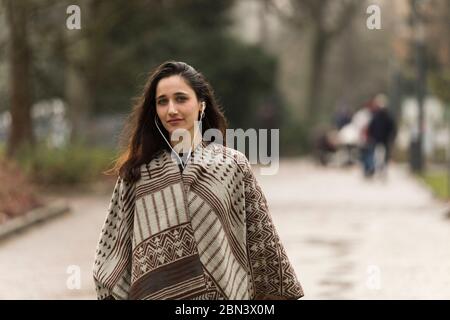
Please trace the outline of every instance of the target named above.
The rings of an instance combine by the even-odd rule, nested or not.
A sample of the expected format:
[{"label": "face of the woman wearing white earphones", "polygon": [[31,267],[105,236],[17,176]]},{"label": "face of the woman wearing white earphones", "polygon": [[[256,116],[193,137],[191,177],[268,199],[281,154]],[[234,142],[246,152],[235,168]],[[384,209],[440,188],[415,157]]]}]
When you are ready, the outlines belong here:
[{"label": "face of the woman wearing white earphones", "polygon": [[156,86],[156,113],[164,128],[172,135],[176,129],[194,133],[194,121],[201,109],[194,90],[178,75],[163,78]]}]

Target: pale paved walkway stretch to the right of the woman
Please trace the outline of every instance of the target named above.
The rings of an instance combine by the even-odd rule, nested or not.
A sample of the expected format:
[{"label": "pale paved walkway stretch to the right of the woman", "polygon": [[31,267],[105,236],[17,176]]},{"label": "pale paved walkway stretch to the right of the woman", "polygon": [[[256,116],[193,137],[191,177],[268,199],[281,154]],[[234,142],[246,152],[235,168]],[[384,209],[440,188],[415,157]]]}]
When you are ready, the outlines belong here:
[{"label": "pale paved walkway stretch to the right of the woman", "polygon": [[446,206],[406,169],[365,181],[288,162],[260,179],[306,299],[450,298]]}]

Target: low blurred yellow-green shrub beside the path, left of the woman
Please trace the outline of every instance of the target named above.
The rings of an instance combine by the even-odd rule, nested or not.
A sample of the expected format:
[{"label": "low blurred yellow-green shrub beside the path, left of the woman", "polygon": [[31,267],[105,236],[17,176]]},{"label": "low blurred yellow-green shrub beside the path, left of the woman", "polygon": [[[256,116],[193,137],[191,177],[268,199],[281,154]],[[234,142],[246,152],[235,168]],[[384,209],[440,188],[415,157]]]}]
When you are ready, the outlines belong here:
[{"label": "low blurred yellow-green shrub beside the path, left of the woman", "polygon": [[63,148],[43,144],[25,147],[17,162],[33,181],[41,185],[71,185],[94,182],[114,160],[113,150],[77,143]]}]

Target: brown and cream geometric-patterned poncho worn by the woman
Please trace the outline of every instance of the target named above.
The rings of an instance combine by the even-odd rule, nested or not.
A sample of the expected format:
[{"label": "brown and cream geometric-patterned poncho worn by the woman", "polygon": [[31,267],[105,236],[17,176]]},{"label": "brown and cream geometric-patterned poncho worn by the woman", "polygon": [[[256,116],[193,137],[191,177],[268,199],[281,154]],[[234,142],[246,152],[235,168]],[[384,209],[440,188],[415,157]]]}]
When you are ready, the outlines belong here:
[{"label": "brown and cream geometric-patterned poncho worn by the woman", "polygon": [[93,271],[99,299],[303,296],[247,158],[215,143],[117,179]]}]

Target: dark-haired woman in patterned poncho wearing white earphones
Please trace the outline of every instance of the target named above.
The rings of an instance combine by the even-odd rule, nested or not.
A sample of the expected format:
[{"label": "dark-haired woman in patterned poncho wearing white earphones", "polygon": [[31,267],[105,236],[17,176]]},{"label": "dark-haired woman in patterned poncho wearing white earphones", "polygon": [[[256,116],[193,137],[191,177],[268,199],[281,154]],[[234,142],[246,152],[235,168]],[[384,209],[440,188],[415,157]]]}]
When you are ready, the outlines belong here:
[{"label": "dark-haired woman in patterned poncho wearing white earphones", "polygon": [[202,74],[160,65],[127,129],[94,263],[99,299],[303,296],[247,158],[202,140],[226,130]]}]

